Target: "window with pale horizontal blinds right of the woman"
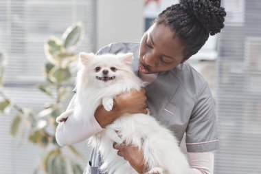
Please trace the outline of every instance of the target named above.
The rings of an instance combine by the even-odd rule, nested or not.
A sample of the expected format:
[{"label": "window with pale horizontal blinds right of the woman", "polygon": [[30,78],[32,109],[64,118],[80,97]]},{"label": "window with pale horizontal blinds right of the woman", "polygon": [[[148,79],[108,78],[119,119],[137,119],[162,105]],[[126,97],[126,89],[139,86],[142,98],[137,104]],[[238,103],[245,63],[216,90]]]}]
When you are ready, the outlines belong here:
[{"label": "window with pale horizontal blinds right of the woman", "polygon": [[261,173],[261,3],[240,0],[231,8],[231,1],[226,1],[229,10],[244,9],[230,14],[220,33],[216,94],[220,149],[215,173]]}]

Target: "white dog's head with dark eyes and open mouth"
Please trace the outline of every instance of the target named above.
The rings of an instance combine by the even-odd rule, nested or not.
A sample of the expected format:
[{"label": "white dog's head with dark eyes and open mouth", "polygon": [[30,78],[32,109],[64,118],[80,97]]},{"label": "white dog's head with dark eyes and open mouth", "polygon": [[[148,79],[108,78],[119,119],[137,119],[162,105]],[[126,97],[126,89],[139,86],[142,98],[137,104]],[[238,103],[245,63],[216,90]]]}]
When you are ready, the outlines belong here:
[{"label": "white dog's head with dark eyes and open mouth", "polygon": [[116,81],[120,82],[126,74],[132,73],[132,60],[132,53],[102,55],[80,53],[80,64],[82,65],[84,76],[99,85],[109,85]]}]

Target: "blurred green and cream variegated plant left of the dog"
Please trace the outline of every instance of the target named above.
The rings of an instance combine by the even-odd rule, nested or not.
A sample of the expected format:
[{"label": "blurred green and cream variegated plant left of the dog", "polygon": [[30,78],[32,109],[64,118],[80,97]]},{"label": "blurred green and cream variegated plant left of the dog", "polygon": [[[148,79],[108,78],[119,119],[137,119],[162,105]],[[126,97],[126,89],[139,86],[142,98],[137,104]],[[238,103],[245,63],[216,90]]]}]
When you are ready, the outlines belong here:
[{"label": "blurred green and cream variegated plant left of the dog", "polygon": [[[45,55],[48,61],[45,63],[43,74],[46,83],[37,85],[37,88],[53,98],[54,103],[45,104],[43,109],[36,113],[32,109],[16,105],[0,89],[0,95],[3,98],[0,102],[0,111],[6,111],[7,108],[16,110],[16,116],[10,128],[11,135],[15,136],[21,130],[23,137],[42,146],[45,151],[41,165],[36,166],[34,173],[37,173],[40,168],[49,174],[82,174],[83,172],[80,164],[65,155],[64,149],[69,149],[78,158],[81,158],[82,155],[73,146],[61,148],[55,138],[56,117],[62,113],[62,104],[72,91],[71,65],[77,59],[73,52],[78,48],[83,37],[83,26],[78,22],[67,28],[61,39],[51,36],[45,41]],[[2,69],[5,67],[3,60],[3,54],[0,54],[0,82],[2,82],[3,76]]]}]

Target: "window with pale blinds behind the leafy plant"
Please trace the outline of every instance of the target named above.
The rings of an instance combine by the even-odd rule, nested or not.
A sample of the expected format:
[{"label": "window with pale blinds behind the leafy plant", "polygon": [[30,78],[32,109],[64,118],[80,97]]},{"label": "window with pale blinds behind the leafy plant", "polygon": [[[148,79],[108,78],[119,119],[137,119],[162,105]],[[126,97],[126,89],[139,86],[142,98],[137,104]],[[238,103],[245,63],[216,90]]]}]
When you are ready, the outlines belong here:
[{"label": "window with pale blinds behind the leafy plant", "polygon": [[[85,37],[77,52],[95,50],[95,0],[4,0],[0,1],[0,50],[7,55],[3,91],[21,107],[41,109],[52,102],[36,85],[43,83],[47,61],[43,43],[49,36],[60,38],[76,21],[84,23]],[[5,174],[33,173],[42,149],[10,136],[14,113],[0,116],[0,168]],[[86,144],[78,145],[86,154]],[[84,166],[84,164],[83,164]]]}]

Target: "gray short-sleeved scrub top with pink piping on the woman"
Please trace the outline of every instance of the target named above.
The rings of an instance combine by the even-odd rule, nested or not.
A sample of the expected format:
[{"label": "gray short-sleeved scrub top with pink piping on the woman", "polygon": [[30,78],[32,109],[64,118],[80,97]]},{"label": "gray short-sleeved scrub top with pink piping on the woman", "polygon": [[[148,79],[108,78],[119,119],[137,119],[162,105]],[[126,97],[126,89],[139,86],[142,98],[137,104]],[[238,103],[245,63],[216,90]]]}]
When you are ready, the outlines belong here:
[{"label": "gray short-sleeved scrub top with pink piping on the woman", "polygon": [[[119,52],[133,52],[133,70],[139,75],[139,43],[111,43],[97,54]],[[151,115],[172,130],[179,143],[185,133],[188,152],[218,149],[214,99],[206,80],[188,63],[184,63],[183,70],[159,73],[145,89]],[[91,155],[92,164],[96,157]]]}]

